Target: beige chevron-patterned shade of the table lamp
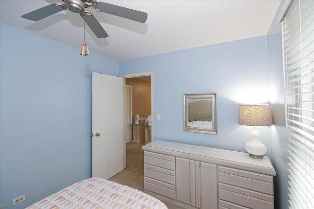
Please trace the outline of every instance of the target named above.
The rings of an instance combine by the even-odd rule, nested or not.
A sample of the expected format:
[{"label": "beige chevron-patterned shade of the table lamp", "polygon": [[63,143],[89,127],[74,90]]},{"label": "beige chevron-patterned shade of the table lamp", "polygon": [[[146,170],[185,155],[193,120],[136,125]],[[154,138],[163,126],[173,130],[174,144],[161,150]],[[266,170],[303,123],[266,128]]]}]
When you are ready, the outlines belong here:
[{"label": "beige chevron-patterned shade of the table lamp", "polygon": [[240,125],[270,126],[273,124],[269,105],[239,105]]}]

